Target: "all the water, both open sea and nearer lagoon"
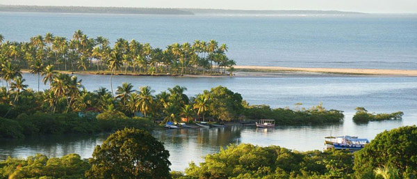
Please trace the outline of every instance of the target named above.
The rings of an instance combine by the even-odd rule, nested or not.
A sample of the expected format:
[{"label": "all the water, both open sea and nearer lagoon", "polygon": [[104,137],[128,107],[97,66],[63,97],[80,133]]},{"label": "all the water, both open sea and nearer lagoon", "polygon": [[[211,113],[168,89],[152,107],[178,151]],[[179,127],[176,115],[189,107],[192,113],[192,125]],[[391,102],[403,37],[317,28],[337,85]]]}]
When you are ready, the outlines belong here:
[{"label": "all the water, both open sea and nearer lagoon", "polygon": [[[347,16],[225,16],[225,15],[94,15],[51,13],[0,13],[0,33],[6,40],[28,40],[54,33],[71,38],[81,29],[88,36],[150,42],[165,47],[173,42],[215,39],[229,46],[238,65],[277,65],[328,68],[417,69],[417,15]],[[109,76],[77,75],[88,91],[110,88]],[[24,74],[26,84],[37,88],[37,76]],[[309,108],[322,102],[327,109],[345,111],[338,125],[279,126],[275,129],[227,127],[224,129],[157,130],[154,136],[170,150],[172,170],[218,152],[230,143],[279,145],[295,150],[321,150],[323,137],[355,135],[373,139],[376,134],[417,124],[417,77],[113,77],[122,82],[151,86],[159,93],[176,84],[194,96],[215,86],[227,86],[250,104]],[[47,86],[40,86],[41,89]],[[156,94],[154,93],[154,95]],[[402,120],[352,122],[355,107],[391,113],[404,111]],[[44,153],[60,157],[79,153],[91,157],[108,134],[30,137],[1,140],[0,159]]]}]

